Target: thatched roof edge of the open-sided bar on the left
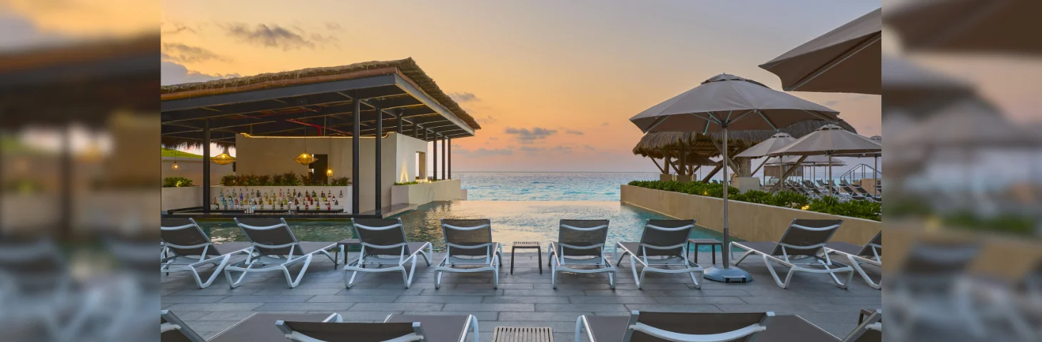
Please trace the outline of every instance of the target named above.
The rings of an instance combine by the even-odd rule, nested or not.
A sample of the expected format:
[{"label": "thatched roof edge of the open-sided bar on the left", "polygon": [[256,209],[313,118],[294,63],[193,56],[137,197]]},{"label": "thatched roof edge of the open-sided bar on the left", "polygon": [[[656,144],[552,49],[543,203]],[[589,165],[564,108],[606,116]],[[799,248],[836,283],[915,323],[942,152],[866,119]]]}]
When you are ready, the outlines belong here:
[{"label": "thatched roof edge of the open-sided bar on the left", "polygon": [[227,93],[275,88],[289,85],[321,83],[352,78],[398,74],[429,98],[438,101],[472,129],[481,129],[477,121],[460,107],[433,79],[427,76],[412,57],[399,60],[373,60],[339,67],[323,67],[267,73],[246,77],[225,78],[207,82],[181,83],[159,87],[160,100],[210,96]]}]

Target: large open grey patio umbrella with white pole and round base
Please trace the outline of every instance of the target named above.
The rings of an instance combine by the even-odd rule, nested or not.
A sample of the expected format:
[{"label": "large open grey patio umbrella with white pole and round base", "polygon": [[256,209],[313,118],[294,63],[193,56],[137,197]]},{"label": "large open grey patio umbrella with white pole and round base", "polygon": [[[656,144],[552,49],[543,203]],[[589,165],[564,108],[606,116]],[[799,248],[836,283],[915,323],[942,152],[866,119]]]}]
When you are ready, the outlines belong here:
[{"label": "large open grey patio umbrella with white pole and round base", "polygon": [[[714,76],[700,85],[630,117],[647,132],[721,132],[727,160],[727,130],[766,130],[788,127],[808,120],[837,122],[838,111],[771,89],[734,75]],[[830,125],[828,125],[830,126]],[[727,228],[727,167],[723,167],[723,265],[705,270],[705,279],[717,282],[746,282],[748,272],[730,266],[730,236]]]}]

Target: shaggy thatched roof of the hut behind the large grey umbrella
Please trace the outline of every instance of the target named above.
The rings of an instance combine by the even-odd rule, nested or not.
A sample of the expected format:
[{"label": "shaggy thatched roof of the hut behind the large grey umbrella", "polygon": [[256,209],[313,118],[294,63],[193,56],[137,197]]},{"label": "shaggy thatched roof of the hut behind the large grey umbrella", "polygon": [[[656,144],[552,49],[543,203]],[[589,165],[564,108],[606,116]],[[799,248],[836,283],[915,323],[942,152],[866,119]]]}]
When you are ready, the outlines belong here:
[{"label": "shaggy thatched roof of the hut behind the large grey umbrella", "polygon": [[[795,138],[810,134],[819,127],[828,125],[825,121],[805,121],[793,124],[778,131],[774,130],[742,130],[727,132],[727,153],[738,154],[761,141],[770,138],[777,132],[789,133]],[[857,133],[850,124],[840,120],[839,126],[843,129]],[[697,153],[705,157],[716,157],[720,155],[719,150],[713,143],[720,141],[723,137],[720,133],[702,134],[697,132],[659,132],[648,133],[641,137],[641,140],[634,147],[634,154],[644,157],[662,158],[664,148],[671,149],[671,154],[676,156],[678,148],[684,144],[689,153]],[[731,154],[734,153],[734,154]]]}]

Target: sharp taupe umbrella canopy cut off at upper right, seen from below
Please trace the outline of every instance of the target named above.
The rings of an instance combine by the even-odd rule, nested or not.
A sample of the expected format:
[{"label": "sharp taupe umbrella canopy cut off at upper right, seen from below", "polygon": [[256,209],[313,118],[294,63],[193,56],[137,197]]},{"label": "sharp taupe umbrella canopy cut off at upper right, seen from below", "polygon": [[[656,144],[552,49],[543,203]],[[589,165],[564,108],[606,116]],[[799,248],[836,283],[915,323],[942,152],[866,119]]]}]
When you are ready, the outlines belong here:
[{"label": "sharp taupe umbrella canopy cut off at upper right, seen from below", "polygon": [[880,95],[883,8],[763,63],[787,91]]}]

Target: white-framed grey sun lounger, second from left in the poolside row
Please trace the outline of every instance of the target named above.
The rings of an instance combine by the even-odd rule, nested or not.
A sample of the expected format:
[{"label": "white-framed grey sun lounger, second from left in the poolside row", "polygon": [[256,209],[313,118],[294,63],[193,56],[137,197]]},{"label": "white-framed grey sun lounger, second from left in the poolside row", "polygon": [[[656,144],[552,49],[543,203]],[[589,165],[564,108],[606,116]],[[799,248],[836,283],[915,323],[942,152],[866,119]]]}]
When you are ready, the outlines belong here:
[{"label": "white-framed grey sun lounger, second from left in the poolside row", "polygon": [[[249,254],[246,260],[224,267],[224,275],[228,285],[235,288],[250,272],[281,271],[290,288],[297,287],[312,263],[312,257],[322,253],[336,262],[337,258],[329,253],[337,242],[300,242],[290,230],[290,225],[282,218],[235,218],[235,225],[250,240]],[[288,266],[303,263],[296,279],[290,274]],[[259,267],[258,267],[259,266]],[[232,272],[242,272],[239,279],[232,279]]]}]

